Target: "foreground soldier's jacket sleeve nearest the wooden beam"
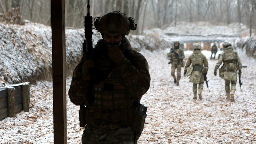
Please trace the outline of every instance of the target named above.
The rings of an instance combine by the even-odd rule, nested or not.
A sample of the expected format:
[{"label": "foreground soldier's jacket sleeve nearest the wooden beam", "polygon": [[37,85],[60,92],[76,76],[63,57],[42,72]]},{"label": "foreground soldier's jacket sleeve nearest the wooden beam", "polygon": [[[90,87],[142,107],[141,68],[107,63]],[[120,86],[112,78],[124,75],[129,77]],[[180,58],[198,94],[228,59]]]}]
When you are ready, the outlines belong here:
[{"label": "foreground soldier's jacket sleeve nearest the wooden beam", "polygon": [[71,85],[68,92],[70,101],[75,105],[81,105],[86,101],[86,94],[89,86],[89,80],[82,80],[82,59],[73,72]]}]

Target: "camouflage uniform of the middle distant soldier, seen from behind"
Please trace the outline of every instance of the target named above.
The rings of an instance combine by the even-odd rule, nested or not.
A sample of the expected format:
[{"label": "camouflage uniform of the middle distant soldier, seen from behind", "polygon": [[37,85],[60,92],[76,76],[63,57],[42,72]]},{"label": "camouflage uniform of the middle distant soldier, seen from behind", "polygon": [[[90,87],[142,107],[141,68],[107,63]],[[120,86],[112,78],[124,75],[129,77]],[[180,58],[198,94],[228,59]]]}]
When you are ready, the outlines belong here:
[{"label": "camouflage uniform of the middle distant soldier, seen from behind", "polygon": [[[207,69],[208,69],[208,61],[207,61],[205,55],[203,55],[200,50],[194,50],[193,54],[191,54],[188,57],[188,60],[186,62],[184,70],[187,71],[187,68],[190,67],[191,64],[193,67],[194,66],[202,66],[202,67],[204,66],[204,67],[207,67]],[[191,76],[190,76],[190,82],[193,83],[194,94],[197,93],[197,84],[198,84],[198,92],[202,92],[204,76],[201,73],[201,71],[192,71]]]}]

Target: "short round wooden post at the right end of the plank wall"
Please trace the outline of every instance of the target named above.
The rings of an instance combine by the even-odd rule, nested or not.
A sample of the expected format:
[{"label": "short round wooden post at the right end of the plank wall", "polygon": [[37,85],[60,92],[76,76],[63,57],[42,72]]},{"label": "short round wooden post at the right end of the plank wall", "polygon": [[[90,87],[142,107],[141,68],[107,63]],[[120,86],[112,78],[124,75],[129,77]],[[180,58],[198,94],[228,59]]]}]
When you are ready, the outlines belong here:
[{"label": "short round wooden post at the right end of the plank wall", "polygon": [[24,112],[29,112],[30,108],[30,85],[22,85],[22,109]]}]

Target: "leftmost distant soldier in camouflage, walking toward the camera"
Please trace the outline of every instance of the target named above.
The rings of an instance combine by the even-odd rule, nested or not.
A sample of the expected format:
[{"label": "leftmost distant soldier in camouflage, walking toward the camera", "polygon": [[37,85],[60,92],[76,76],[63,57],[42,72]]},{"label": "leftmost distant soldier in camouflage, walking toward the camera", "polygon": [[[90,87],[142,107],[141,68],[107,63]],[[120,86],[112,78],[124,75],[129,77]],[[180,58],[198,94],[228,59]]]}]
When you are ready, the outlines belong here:
[{"label": "leftmost distant soldier in camouflage, walking toward the camera", "polygon": [[[175,46],[175,44],[178,44],[178,46]],[[175,53],[178,53],[178,57],[180,58],[180,62],[178,59],[175,57]],[[181,79],[181,64],[183,62],[184,56],[184,51],[183,49],[180,48],[180,43],[178,41],[174,42],[174,49],[171,48],[170,52],[167,54],[167,57],[171,58],[171,75],[174,78],[174,83],[179,85],[180,79]],[[177,80],[175,77],[175,69],[177,69]]]}]

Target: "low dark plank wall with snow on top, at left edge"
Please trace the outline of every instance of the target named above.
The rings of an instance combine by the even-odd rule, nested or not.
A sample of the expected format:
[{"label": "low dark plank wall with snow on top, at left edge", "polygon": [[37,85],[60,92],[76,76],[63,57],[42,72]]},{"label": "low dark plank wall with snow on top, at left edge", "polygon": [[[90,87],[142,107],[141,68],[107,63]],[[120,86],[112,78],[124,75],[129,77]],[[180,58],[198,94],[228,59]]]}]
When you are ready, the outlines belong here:
[{"label": "low dark plank wall with snow on top, at left edge", "polygon": [[15,114],[29,112],[30,85],[29,82],[0,87],[0,120],[15,117]]}]

